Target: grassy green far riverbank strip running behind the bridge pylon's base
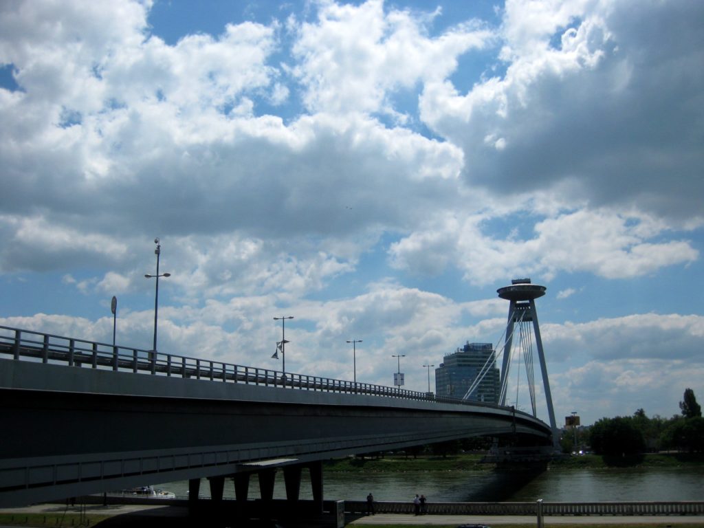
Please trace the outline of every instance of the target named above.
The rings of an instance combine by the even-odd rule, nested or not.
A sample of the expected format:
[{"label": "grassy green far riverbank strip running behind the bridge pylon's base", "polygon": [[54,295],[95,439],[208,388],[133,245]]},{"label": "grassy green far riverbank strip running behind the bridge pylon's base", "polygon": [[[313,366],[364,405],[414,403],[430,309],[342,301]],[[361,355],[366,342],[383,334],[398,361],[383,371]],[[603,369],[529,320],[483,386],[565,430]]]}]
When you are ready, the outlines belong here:
[{"label": "grassy green far riverbank strip running behind the bridge pylon's base", "polygon": [[[341,458],[327,460],[323,464],[325,472],[389,472],[413,471],[492,471],[496,464],[484,463],[484,454],[434,456],[385,455],[383,458]],[[602,455],[565,455],[553,458],[548,467],[560,469],[608,469],[610,467],[667,468],[704,466],[704,453],[646,453],[625,457]],[[514,468],[515,469],[515,468]]]}]

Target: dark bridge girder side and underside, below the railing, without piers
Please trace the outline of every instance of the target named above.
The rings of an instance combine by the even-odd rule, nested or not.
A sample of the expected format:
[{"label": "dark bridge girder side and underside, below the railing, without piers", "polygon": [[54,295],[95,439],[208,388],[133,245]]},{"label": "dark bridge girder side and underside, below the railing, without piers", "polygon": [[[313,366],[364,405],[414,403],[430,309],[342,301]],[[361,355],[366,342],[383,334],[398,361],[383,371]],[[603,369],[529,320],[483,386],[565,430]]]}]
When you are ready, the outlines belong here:
[{"label": "dark bridge girder side and underside, below the railing, without piers", "polygon": [[0,360],[0,506],[528,434],[523,413]]}]

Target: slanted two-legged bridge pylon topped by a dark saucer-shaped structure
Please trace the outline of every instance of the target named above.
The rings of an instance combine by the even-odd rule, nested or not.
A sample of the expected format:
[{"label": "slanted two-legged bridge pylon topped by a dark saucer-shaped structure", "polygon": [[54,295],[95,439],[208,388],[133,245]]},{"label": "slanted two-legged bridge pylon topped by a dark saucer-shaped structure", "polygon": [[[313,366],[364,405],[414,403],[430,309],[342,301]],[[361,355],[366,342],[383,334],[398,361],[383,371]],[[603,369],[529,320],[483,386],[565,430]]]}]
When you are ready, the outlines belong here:
[{"label": "slanted two-legged bridge pylon topped by a dark saucer-shaped structure", "polygon": [[[540,325],[538,324],[538,311],[536,310],[536,298],[545,295],[546,287],[539,284],[532,284],[531,279],[513,279],[510,286],[505,286],[496,290],[498,296],[510,301],[508,307],[508,322],[506,323],[505,340],[503,345],[503,363],[501,365],[501,396],[499,403],[506,405],[506,392],[508,386],[508,372],[511,361],[511,351],[514,341],[514,334],[517,331],[519,346],[522,348],[526,373],[528,377],[529,394],[531,396],[533,415],[536,415],[535,385],[532,377],[532,343],[533,337],[538,351],[540,361],[541,377],[543,378],[543,390],[548,407],[548,417],[550,427],[553,432],[553,446],[559,446],[560,436],[558,434],[557,422],[555,422],[555,410],[553,408],[553,397],[550,391],[548,380],[548,368],[545,362],[545,352],[543,351],[543,340],[540,336]],[[532,327],[532,332],[531,332]]]}]

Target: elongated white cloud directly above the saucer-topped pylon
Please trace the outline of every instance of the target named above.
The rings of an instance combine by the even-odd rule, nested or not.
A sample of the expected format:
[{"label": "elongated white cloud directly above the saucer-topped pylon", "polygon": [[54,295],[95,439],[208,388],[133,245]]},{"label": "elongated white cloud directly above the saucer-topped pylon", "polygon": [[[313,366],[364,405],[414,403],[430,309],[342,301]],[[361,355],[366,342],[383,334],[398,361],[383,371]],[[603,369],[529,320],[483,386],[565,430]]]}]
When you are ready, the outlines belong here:
[{"label": "elongated white cloud directly above the saucer-topped pylon", "polygon": [[662,234],[662,225],[648,217],[577,210],[537,222],[532,239],[494,238],[482,228],[490,219],[448,218],[433,230],[418,230],[391,246],[392,264],[439,273],[452,262],[465,270],[468,281],[487,284],[515,275],[577,271],[610,279],[639,277],[699,258],[689,241],[648,241]]}]

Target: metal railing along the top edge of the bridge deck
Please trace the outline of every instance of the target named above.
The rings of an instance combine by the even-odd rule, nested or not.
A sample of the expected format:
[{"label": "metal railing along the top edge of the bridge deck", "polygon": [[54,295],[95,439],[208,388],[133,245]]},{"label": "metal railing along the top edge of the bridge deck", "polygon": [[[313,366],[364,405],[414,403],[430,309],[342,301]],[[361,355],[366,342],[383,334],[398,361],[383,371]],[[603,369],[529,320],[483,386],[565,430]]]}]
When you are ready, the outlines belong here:
[{"label": "metal railing along the top edge of the bridge deck", "polygon": [[[491,403],[465,401],[434,396],[425,392],[396,387],[348,382],[341,379],[279,372],[276,370],[234,365],[221,361],[163,354],[142,348],[130,348],[97,341],[63,337],[34,330],[0,325],[0,357],[13,360],[63,364],[72,367],[128,371],[148,375],[203,379],[299,389],[306,391],[364,394],[389,398],[437,401],[458,405],[500,408]],[[519,414],[519,411],[516,411]],[[520,413],[523,414],[523,413]]]}]

